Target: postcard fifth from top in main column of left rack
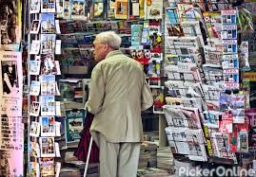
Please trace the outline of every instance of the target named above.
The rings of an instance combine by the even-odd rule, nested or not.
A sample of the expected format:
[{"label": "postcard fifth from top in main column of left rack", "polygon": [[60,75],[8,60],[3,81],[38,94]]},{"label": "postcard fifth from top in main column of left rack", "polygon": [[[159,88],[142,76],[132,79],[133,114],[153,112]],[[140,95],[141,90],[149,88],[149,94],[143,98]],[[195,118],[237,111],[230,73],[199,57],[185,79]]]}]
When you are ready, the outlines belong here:
[{"label": "postcard fifth from top in main column of left rack", "polygon": [[54,96],[56,90],[56,81],[54,75],[41,75],[41,95]]}]

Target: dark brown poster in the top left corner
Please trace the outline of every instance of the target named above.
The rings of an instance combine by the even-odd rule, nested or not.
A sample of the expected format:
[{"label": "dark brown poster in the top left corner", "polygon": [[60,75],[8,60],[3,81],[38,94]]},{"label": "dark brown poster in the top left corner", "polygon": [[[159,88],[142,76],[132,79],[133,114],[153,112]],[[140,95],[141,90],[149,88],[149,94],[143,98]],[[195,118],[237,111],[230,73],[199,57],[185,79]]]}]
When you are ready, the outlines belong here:
[{"label": "dark brown poster in the top left corner", "polygon": [[18,51],[22,38],[21,0],[0,0],[0,49]]}]

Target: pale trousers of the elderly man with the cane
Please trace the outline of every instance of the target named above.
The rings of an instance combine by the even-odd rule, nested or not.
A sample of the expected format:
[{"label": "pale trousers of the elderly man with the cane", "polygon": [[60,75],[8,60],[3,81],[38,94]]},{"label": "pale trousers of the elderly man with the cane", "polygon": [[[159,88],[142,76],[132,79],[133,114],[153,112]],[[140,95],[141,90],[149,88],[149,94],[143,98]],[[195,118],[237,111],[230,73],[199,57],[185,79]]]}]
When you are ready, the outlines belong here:
[{"label": "pale trousers of the elderly man with the cane", "polygon": [[110,143],[102,133],[93,136],[100,149],[100,177],[136,177],[140,143]]}]

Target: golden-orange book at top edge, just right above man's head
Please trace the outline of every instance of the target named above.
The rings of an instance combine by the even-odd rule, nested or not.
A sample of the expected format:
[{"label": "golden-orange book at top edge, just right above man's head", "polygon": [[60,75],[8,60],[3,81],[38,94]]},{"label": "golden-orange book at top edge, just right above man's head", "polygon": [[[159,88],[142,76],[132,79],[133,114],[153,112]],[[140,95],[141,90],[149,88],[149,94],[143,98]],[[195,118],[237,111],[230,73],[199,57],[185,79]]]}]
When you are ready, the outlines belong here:
[{"label": "golden-orange book at top edge, just right above man's head", "polygon": [[128,19],[128,0],[115,1],[115,19]]}]

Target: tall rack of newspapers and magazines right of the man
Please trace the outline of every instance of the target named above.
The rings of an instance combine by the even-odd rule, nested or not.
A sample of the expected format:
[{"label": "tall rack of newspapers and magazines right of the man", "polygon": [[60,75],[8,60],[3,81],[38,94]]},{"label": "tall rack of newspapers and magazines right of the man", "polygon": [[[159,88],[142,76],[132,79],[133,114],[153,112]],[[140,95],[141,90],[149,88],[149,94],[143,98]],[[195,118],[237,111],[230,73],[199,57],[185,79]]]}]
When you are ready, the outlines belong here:
[{"label": "tall rack of newspapers and magazines right of the man", "polygon": [[[233,150],[233,145],[235,143],[230,143],[232,138],[226,135],[228,133],[220,133],[218,130],[219,126],[222,126],[219,125],[219,123],[222,124],[223,121],[226,121],[225,116],[223,115],[226,114],[226,112],[218,111],[220,109],[220,92],[231,90],[231,95],[235,95],[235,92],[238,90],[237,85],[241,82],[241,80],[239,80],[241,72],[238,72],[239,63],[237,61],[240,53],[238,53],[237,47],[238,44],[241,43],[240,36],[243,36],[243,34],[237,32],[238,29],[235,26],[238,22],[234,20],[235,18],[229,18],[229,16],[236,14],[232,14],[232,10],[223,10],[223,13],[221,13],[221,9],[236,9],[237,6],[241,5],[242,3],[240,1],[231,3],[217,3],[211,2],[210,0],[204,2],[193,1],[190,3],[177,1],[172,3],[169,2],[169,7],[166,7],[165,9],[166,61],[164,70],[166,74],[165,86],[167,89],[167,106],[170,106],[171,109],[174,110],[183,109],[184,107],[197,107],[184,103],[184,99],[186,98],[188,100],[191,98],[200,98],[203,102],[202,109],[199,110],[201,128],[190,126],[191,123],[187,119],[184,119],[184,117],[175,117],[177,115],[174,114],[168,115],[169,110],[167,111],[166,109],[165,111],[168,123],[168,128],[166,129],[167,139],[175,159],[183,159],[181,161],[189,160],[187,157],[187,155],[189,155],[188,152],[186,153],[185,151],[182,151],[182,153],[184,153],[182,154],[179,152],[177,153],[177,151],[179,151],[178,149],[181,147],[181,144],[179,143],[184,143],[184,146],[187,146],[185,144],[189,144],[190,142],[187,142],[186,135],[183,140],[179,139],[178,141],[175,141],[175,136],[181,135],[175,133],[175,131],[177,131],[176,129],[182,129],[184,128],[184,125],[177,126],[173,123],[170,124],[170,117],[172,121],[188,122],[188,126],[186,127],[188,130],[204,130],[204,134],[202,134],[204,143],[202,143],[202,145],[206,145],[207,147],[208,163],[242,166],[242,159],[245,154],[247,154],[248,151],[250,153],[250,150]],[[226,16],[229,12],[230,15]],[[227,31],[229,30],[226,29],[227,27],[234,27],[234,29],[230,29],[230,32]],[[246,36],[248,35],[245,34],[244,36],[245,37],[242,38],[242,40],[245,41],[247,39]],[[231,40],[233,40],[232,43],[234,43],[230,43],[229,48],[229,45],[226,43],[231,42]],[[230,55],[232,55],[232,57],[230,57]],[[187,57],[187,61],[181,60],[182,57],[185,56]],[[228,57],[232,59],[230,60]],[[183,65],[186,65],[186,62],[189,62],[190,64],[195,63],[194,68],[197,68],[200,80],[194,77],[187,77],[187,79],[183,76],[181,77],[181,73],[183,73],[181,67],[179,67],[179,64],[182,65],[181,62]],[[233,71],[227,73],[230,68],[232,68]],[[245,70],[241,68],[241,71],[243,73]],[[237,125],[236,123],[234,124]],[[246,123],[244,128],[246,130]],[[234,126],[234,130],[238,132],[244,128],[240,127],[236,130]],[[214,129],[215,132],[213,131]],[[235,133],[231,134],[233,135]],[[239,139],[240,137],[238,136],[239,135],[235,137]],[[237,141],[242,140],[240,139]],[[194,141],[191,142],[193,145],[194,143],[196,144]],[[244,140],[244,142],[246,141]],[[232,144],[232,150],[230,144]],[[238,144],[234,146],[238,146]],[[201,151],[196,150],[194,152],[198,155]],[[251,154],[253,154],[253,152]],[[192,163],[198,161],[198,159],[190,159],[189,161]]]}]

